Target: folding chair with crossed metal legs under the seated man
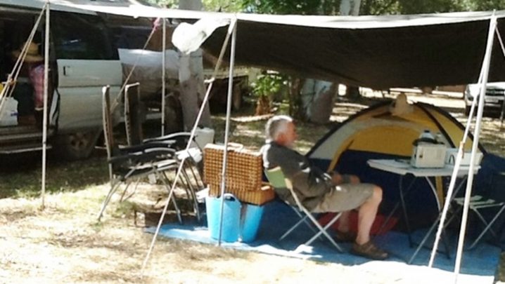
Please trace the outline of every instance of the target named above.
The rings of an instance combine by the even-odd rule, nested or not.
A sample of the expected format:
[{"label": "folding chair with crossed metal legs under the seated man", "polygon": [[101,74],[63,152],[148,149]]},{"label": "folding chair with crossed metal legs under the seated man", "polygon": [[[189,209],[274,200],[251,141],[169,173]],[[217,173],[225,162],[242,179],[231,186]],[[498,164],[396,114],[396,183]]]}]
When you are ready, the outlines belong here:
[{"label": "folding chair with crossed metal legs under the seated man", "polygon": [[[305,208],[305,206],[302,205],[302,203],[300,202],[300,198],[298,198],[298,195],[295,193],[295,190],[293,189],[293,184],[291,183],[291,181],[288,178],[286,178],[284,176],[280,167],[265,170],[265,175],[267,175],[267,178],[268,178],[270,184],[275,189],[289,189],[291,195],[293,196],[293,199],[295,200],[296,206],[298,208],[293,207],[293,205],[289,204],[289,203],[288,203],[288,205],[290,205],[290,207],[293,208],[293,210],[297,213],[297,215],[300,216],[300,221],[298,221],[295,225],[291,226],[290,229],[288,229],[288,231],[286,231],[286,233],[284,233],[281,236],[281,238],[279,238],[279,241],[282,241],[284,238],[286,238],[286,236],[288,236],[292,231],[294,231],[298,226],[300,226],[300,224],[305,223],[309,226],[309,228],[313,229],[313,231],[316,234],[314,236],[312,236],[312,238],[310,238],[309,241],[305,242],[304,245],[310,245],[313,241],[315,241],[317,238],[319,238],[319,236],[321,236],[321,234],[322,234],[323,236],[325,236],[328,239],[328,241],[330,241],[330,243],[339,252],[342,252],[342,249],[340,248],[340,246],[337,243],[335,243],[333,238],[331,238],[331,236],[326,231],[330,226],[332,226],[338,220],[340,215],[342,215],[342,212],[339,212],[337,215],[335,215],[335,217],[333,217],[333,219],[331,219],[330,222],[328,222],[328,224],[326,224],[323,227],[323,226],[321,226],[321,224],[319,224],[319,222],[317,222],[317,219],[314,217],[314,215],[312,215],[312,212],[307,210],[307,208]],[[286,201],[286,203],[287,203],[287,201]],[[317,230],[314,230],[313,226],[315,226],[317,228]]]}]

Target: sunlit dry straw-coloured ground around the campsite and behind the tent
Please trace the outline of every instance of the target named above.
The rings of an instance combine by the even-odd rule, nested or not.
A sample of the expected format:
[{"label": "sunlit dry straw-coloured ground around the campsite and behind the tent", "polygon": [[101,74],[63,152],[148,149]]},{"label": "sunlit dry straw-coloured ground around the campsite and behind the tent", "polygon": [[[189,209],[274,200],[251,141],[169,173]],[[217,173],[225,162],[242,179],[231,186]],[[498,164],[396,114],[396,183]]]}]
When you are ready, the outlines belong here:
[{"label": "sunlit dry straw-coloured ground around the campsite and behind the tent", "polygon": [[[461,98],[443,100],[452,101],[452,114],[466,120],[461,114]],[[332,121],[341,122],[364,107],[366,104],[362,103],[335,104]],[[240,119],[235,121],[234,137],[253,141],[250,146],[256,148],[262,141],[264,121],[256,122],[255,128],[248,127],[247,122],[237,122]],[[499,121],[485,119],[483,123],[481,142],[492,153],[503,154],[505,140]],[[321,126],[314,131],[319,135],[327,129],[328,126]],[[300,135],[311,135],[305,131],[301,130]],[[297,146],[307,151],[315,142],[313,137]],[[94,159],[105,163],[103,155]],[[34,181],[37,187],[38,179]],[[0,190],[11,190],[6,184],[0,183]],[[135,218],[129,203],[117,200],[111,202],[102,222],[97,222],[96,214],[107,191],[108,184],[100,180],[83,189],[53,192],[46,195],[44,210],[39,198],[0,199],[0,283],[426,283],[427,280],[422,276],[426,272],[408,276],[404,264],[394,266],[399,269],[370,269],[367,265],[343,266],[165,238],[158,238],[146,270],[141,271],[153,235],[143,232],[146,224],[143,215]]]}]

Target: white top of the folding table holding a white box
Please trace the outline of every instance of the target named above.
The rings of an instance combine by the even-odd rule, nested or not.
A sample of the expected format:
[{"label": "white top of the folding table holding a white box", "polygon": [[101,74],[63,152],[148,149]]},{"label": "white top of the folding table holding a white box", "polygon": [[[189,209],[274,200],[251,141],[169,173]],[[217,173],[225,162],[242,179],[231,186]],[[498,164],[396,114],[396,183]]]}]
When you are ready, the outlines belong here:
[{"label": "white top of the folding table holding a white box", "polygon": [[[447,177],[452,175],[452,171],[454,170],[454,165],[445,165],[444,168],[414,168],[410,165],[410,161],[406,159],[369,160],[367,163],[371,168],[398,175],[411,174],[415,177]],[[468,168],[468,165],[461,165],[458,170],[458,176],[468,175]],[[480,166],[476,166],[474,173],[477,173],[479,168]]]}]

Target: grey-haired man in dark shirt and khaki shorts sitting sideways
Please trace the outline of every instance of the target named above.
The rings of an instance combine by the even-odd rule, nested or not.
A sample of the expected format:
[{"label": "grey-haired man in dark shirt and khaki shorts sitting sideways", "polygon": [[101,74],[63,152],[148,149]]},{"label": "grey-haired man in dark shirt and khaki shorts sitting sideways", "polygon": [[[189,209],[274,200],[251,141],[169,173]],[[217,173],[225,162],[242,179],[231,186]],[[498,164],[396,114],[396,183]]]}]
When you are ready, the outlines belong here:
[{"label": "grey-haired man in dark shirt and khaki shorts sitting sideways", "polygon": [[[350,236],[347,217],[349,210],[358,210],[358,231],[352,253],[371,259],[386,259],[385,252],[370,240],[370,229],[382,201],[382,189],[374,184],[360,184],[357,177],[328,175],[310,165],[309,160],[291,149],[297,138],[290,116],[274,116],[266,126],[267,144],[262,148],[264,168],[280,166],[293,183],[300,202],[311,212],[344,212],[340,235]],[[346,183],[347,182],[347,183]],[[277,192],[279,197],[295,204],[290,192]]]}]

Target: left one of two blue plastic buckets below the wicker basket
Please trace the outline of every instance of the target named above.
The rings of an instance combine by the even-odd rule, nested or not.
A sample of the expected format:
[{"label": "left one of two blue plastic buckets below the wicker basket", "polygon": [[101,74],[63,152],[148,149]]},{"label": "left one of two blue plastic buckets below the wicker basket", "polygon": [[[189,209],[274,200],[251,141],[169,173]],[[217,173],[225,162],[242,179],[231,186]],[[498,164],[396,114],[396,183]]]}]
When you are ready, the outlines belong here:
[{"label": "left one of two blue plastic buckets below the wicker basket", "polygon": [[[222,198],[207,196],[205,208],[207,209],[207,226],[210,237],[219,239],[219,218],[221,217]],[[223,222],[221,240],[233,243],[238,241],[241,222],[241,202],[233,194],[224,194]]]}]

